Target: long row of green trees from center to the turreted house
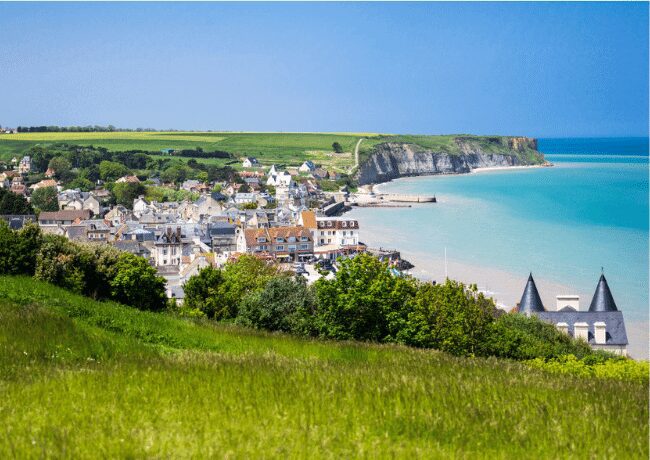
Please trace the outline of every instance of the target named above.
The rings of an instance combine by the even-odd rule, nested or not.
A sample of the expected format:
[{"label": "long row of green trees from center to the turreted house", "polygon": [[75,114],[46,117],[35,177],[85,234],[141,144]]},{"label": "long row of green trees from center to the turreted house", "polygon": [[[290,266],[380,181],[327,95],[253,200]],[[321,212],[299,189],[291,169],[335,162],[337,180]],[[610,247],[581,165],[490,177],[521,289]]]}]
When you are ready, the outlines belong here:
[{"label": "long row of green trees from center to the turreted house", "polygon": [[475,286],[394,276],[361,254],[312,286],[253,256],[207,267],[185,284],[182,311],[303,337],[433,348],[458,356],[552,359],[594,352],[537,318],[505,314]]}]

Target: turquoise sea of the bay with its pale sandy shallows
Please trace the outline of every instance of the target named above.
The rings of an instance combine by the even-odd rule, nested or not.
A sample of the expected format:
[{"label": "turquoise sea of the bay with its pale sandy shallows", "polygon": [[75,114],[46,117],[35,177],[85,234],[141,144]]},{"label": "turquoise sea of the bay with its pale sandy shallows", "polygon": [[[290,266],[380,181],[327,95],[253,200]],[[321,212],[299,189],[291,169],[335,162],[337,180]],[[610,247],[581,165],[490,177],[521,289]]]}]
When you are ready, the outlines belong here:
[{"label": "turquoise sea of the bay with its pale sandy shallows", "polygon": [[553,167],[402,178],[382,192],[435,204],[357,208],[361,240],[400,250],[413,274],[467,283],[509,308],[532,273],[547,309],[601,272],[623,311],[629,351],[648,359],[648,138],[539,139]]}]

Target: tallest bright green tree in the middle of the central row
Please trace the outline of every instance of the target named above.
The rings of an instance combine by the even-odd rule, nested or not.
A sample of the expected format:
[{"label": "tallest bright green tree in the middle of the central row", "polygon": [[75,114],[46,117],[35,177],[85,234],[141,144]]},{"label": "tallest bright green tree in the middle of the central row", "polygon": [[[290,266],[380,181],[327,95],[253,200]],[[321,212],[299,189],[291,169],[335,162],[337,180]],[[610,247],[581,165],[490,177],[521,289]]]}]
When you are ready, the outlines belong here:
[{"label": "tallest bright green tree in the middle of the central row", "polygon": [[315,283],[320,335],[334,339],[395,341],[417,290],[369,254],[340,259],[333,279]]}]

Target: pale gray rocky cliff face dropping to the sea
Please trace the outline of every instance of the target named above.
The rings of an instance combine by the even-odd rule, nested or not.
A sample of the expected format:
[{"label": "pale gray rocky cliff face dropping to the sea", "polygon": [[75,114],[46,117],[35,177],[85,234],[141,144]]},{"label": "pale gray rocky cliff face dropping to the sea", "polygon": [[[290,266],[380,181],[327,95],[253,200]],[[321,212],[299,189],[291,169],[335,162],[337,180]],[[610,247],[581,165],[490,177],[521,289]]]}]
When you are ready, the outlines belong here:
[{"label": "pale gray rocky cliff face dropping to the sea", "polygon": [[376,184],[404,176],[462,174],[475,168],[541,164],[536,139],[508,138],[492,146],[473,138],[456,138],[457,153],[436,152],[415,144],[386,142],[375,146],[357,174],[359,184]]}]

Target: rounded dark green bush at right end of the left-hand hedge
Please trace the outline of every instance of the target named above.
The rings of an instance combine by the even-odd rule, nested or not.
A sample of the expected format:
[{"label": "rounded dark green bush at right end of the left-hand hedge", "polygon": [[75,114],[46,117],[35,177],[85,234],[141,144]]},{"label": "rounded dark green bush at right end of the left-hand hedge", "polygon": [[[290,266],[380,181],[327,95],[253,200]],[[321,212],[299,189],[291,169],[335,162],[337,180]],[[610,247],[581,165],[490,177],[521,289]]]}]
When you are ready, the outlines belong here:
[{"label": "rounded dark green bush at right end of the left-hand hedge", "polygon": [[140,310],[161,311],[166,305],[165,279],[143,257],[120,254],[117,274],[110,281],[111,296]]}]

